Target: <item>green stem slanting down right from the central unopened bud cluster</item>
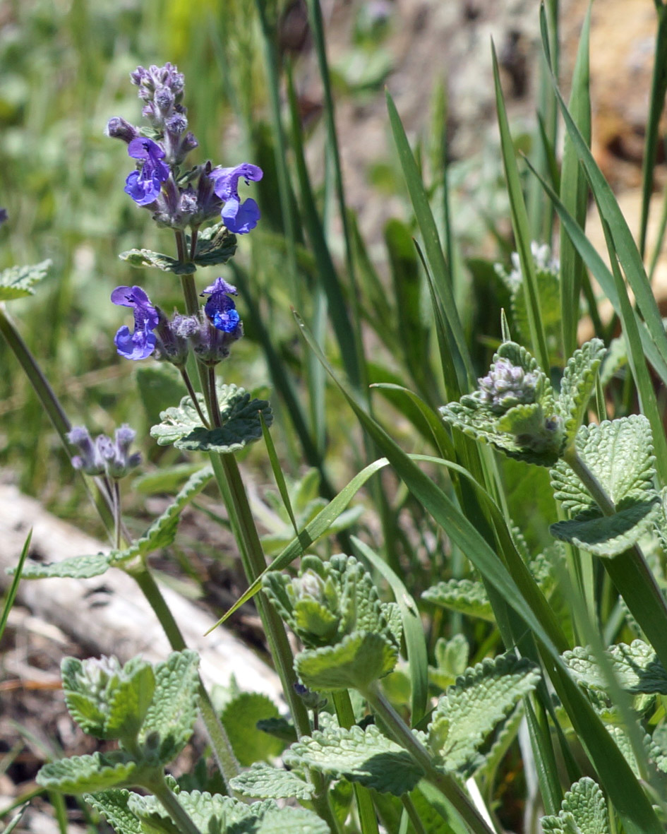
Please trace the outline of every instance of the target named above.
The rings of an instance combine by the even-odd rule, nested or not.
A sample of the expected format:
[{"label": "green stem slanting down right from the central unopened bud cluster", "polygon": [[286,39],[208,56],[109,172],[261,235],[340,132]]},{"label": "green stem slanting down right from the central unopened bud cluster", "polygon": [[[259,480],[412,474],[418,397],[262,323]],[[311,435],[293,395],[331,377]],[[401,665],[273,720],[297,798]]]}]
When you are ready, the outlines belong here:
[{"label": "green stem slanting down right from the central unopened bud cluster", "polygon": [[464,791],[461,790],[456,781],[447,773],[439,771],[434,766],[429,751],[414,736],[409,726],[384,697],[377,681],[372,683],[361,694],[382,719],[384,726],[386,726],[389,733],[394,737],[394,741],[398,742],[400,746],[409,752],[410,756],[413,757],[414,761],[424,771],[424,778],[434,787],[438,788],[469,827],[469,830],[473,831],[474,834],[494,834],[493,830],[489,828],[484,818],[480,816],[477,808],[469,800],[469,797],[464,794]]}]

